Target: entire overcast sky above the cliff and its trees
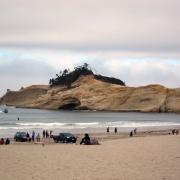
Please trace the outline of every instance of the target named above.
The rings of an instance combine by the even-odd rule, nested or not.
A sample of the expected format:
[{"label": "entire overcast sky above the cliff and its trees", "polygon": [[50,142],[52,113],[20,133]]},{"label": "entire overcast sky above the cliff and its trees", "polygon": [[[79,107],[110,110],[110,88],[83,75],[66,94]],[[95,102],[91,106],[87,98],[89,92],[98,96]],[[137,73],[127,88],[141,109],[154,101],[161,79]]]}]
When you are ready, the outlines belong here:
[{"label": "entire overcast sky above the cliff and its trees", "polygon": [[0,96],[87,62],[129,86],[180,87],[179,0],[0,0]]}]

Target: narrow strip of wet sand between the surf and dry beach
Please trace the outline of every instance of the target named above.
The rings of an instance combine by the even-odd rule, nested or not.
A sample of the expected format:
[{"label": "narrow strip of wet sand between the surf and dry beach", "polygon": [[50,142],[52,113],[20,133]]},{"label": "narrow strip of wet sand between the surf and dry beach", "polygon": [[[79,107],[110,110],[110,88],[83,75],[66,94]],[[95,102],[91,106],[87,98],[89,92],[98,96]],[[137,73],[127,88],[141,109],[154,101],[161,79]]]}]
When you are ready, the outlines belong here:
[{"label": "narrow strip of wet sand between the surf and dry beach", "polygon": [[[92,134],[92,135],[96,135],[96,136],[116,136],[116,137],[121,137],[121,136],[125,136],[128,137],[129,133],[131,131],[133,131],[135,128],[134,127],[129,127],[129,128],[121,128],[118,127],[118,132],[117,134],[114,133],[114,127],[109,127],[110,128],[110,132],[107,133],[106,132],[106,128],[85,128],[85,129],[46,129],[48,131],[52,130],[54,135],[59,134],[60,132],[68,132],[68,133],[72,133],[74,135],[84,135],[85,133],[88,134]],[[137,129],[137,135],[136,136],[143,136],[143,135],[164,135],[164,134],[171,134],[173,129],[177,129],[180,131],[180,126],[179,125],[174,125],[174,126],[156,126],[156,127],[138,127]],[[14,137],[14,134],[16,132],[28,132],[30,135],[32,134],[32,131],[35,131],[36,134],[40,133],[40,136],[42,137],[42,131],[43,128],[38,128],[38,129],[11,129],[11,133],[9,131],[9,133],[7,133],[7,129],[6,130],[1,130],[0,133],[0,138],[10,138],[11,140]],[[4,131],[4,133],[3,133]]]}]

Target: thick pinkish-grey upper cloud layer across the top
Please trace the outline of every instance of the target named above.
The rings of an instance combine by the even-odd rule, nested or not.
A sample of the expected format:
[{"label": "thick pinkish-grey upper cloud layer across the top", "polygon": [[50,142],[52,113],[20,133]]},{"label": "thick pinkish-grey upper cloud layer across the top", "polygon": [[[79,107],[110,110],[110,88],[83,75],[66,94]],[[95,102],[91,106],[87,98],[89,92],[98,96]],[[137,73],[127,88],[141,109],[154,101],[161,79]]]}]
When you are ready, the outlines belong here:
[{"label": "thick pinkish-grey upper cloud layer across the top", "polygon": [[0,2],[2,47],[179,52],[179,0]]}]

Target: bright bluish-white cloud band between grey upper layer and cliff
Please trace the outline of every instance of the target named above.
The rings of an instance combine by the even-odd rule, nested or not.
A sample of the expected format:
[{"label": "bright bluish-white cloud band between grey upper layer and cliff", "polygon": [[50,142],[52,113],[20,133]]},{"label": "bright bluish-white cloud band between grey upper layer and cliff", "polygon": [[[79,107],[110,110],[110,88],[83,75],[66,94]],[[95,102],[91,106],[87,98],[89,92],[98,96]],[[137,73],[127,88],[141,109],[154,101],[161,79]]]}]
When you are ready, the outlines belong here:
[{"label": "bright bluish-white cloud band between grey upper layer and cliff", "polygon": [[7,88],[48,84],[48,80],[65,68],[88,63],[97,74],[116,77],[128,86],[162,84],[180,87],[179,58],[148,56],[146,53],[69,52],[51,50],[0,49],[2,95]]}]

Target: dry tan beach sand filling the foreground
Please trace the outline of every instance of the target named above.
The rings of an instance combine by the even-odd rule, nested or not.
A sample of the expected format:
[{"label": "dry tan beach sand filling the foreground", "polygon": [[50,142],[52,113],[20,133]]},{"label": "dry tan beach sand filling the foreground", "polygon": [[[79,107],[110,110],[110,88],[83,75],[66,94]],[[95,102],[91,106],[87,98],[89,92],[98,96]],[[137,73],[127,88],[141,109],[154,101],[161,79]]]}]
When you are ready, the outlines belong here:
[{"label": "dry tan beach sand filling the foreground", "polygon": [[101,145],[0,146],[0,180],[178,180],[180,135],[91,135]]}]

